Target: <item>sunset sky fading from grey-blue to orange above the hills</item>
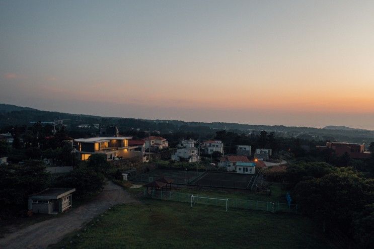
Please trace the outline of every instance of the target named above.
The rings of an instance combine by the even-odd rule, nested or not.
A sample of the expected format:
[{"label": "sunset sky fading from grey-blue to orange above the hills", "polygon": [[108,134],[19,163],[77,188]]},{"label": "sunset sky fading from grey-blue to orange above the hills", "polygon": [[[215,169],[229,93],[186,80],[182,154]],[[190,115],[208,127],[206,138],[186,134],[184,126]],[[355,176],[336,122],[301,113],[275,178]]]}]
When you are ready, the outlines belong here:
[{"label": "sunset sky fading from grey-blue to orange above the hills", "polygon": [[374,129],[374,1],[0,1],[0,103]]}]

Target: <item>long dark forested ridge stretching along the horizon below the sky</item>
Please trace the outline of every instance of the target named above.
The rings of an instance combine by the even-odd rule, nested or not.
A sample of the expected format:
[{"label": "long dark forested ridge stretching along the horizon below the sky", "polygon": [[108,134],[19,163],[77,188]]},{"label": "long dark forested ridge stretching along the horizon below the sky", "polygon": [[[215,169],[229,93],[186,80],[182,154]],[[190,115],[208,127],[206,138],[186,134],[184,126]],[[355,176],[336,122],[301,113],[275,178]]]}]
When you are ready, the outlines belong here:
[{"label": "long dark forested ridge stretching along the horizon below the sky", "polygon": [[[283,137],[295,137],[309,140],[329,140],[355,143],[369,143],[374,141],[374,131],[355,129],[345,126],[326,126],[324,128],[291,127],[283,125],[253,125],[225,122],[186,122],[182,120],[148,120],[131,117],[101,117],[86,114],[70,114],[61,112],[41,111],[29,107],[0,104],[0,129],[8,126],[30,125],[30,122],[53,122],[63,120],[63,124],[70,130],[80,131],[79,125],[91,126],[92,132],[97,132],[93,124],[100,126],[117,126],[122,132],[127,130],[147,131],[148,129],[160,131],[161,134],[177,134],[182,132],[199,133],[202,136],[214,137],[218,130],[228,132],[259,134],[260,131],[275,132]],[[8,128],[6,128],[8,129]],[[7,130],[6,130],[7,131]]]}]

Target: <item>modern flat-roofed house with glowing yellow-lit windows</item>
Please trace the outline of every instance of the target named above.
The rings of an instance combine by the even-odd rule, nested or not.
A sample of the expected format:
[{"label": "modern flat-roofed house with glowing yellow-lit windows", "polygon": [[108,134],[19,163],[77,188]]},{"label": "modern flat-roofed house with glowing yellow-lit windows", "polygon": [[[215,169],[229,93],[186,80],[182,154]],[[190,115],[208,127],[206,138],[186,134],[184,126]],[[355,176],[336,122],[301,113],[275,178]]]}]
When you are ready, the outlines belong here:
[{"label": "modern flat-roofed house with glowing yellow-lit windows", "polygon": [[76,152],[81,160],[92,154],[105,154],[107,160],[142,156],[141,151],[129,151],[128,141],[132,137],[87,137],[74,139],[78,143]]}]

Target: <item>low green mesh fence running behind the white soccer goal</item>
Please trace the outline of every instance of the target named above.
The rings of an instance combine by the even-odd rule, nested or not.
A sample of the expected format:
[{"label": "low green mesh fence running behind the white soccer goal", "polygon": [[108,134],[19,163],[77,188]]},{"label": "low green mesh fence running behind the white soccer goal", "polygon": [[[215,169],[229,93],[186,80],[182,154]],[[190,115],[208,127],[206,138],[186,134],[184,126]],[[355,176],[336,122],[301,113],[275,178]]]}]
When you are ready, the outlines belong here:
[{"label": "low green mesh fence running behind the white soccer goal", "polygon": [[[191,203],[191,196],[194,197],[207,197],[205,198],[192,198],[193,204],[204,204],[226,207],[226,199],[228,199],[228,208],[230,209],[253,209],[262,210],[267,212],[286,212],[286,213],[298,213],[298,206],[295,204],[288,205],[287,203],[280,202],[270,202],[270,201],[255,201],[246,199],[236,199],[236,198],[224,198],[218,196],[208,196],[208,195],[197,195],[189,193],[180,193],[172,191],[147,191],[144,189],[144,197],[161,199],[167,201],[178,201]],[[214,199],[217,198],[217,199]],[[219,199],[219,200],[218,200]]]}]

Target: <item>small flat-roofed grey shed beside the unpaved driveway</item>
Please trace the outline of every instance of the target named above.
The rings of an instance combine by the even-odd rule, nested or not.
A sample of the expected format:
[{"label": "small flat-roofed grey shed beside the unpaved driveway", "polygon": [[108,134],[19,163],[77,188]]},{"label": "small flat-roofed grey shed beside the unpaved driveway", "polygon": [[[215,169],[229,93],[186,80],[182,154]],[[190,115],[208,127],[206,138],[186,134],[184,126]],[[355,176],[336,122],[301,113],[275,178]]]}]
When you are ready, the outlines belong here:
[{"label": "small flat-roofed grey shed beside the unpaved driveway", "polygon": [[29,197],[33,213],[58,214],[71,208],[71,193],[76,189],[48,188]]}]

